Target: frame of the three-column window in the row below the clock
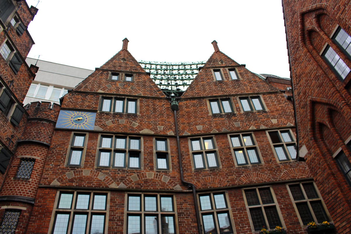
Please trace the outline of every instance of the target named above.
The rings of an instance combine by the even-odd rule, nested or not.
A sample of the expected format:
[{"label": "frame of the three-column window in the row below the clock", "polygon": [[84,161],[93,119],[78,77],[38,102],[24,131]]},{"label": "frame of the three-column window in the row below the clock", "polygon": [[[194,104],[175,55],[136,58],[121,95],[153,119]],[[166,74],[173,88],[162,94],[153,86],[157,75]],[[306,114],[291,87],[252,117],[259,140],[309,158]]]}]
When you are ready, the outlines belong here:
[{"label": "frame of the three-column window in the row below the clock", "polygon": [[[110,148],[102,147],[102,139],[103,138],[111,138]],[[125,139],[124,148],[116,148],[117,146],[117,139]],[[139,141],[139,149],[130,148],[131,147],[131,140],[138,140]],[[108,166],[101,166],[100,165],[100,158],[101,152],[108,152],[110,154]],[[116,153],[124,153],[124,165],[122,166],[115,166],[116,163]],[[137,155],[139,167],[131,167],[130,163],[132,156]],[[134,158],[137,158],[134,157]],[[135,135],[112,135],[112,134],[99,134],[99,141],[98,141],[98,149],[96,155],[96,167],[98,168],[114,168],[114,169],[143,169],[143,137],[135,136]]]}]

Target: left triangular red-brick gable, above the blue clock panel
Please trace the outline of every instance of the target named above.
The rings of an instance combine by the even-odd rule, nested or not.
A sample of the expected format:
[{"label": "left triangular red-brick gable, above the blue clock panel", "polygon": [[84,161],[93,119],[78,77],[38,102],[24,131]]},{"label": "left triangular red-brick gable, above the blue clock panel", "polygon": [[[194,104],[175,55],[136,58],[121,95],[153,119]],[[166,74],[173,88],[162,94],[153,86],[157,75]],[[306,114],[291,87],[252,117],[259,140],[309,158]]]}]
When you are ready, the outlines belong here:
[{"label": "left triangular red-brick gable, above the blue clock panel", "polygon": [[[125,38],[122,49],[100,68],[96,68],[73,91],[165,97],[150,74],[129,53],[127,45],[128,39]],[[111,72],[123,74],[122,80],[111,80]],[[133,81],[125,81],[124,74],[132,74]]]}]

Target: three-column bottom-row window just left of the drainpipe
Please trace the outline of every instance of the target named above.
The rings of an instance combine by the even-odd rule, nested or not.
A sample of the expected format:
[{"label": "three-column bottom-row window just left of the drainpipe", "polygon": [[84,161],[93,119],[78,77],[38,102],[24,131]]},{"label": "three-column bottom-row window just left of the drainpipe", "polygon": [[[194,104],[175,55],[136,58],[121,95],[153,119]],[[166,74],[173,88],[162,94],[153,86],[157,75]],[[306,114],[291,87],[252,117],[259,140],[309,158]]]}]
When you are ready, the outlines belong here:
[{"label": "three-column bottom-row window just left of the drainpipe", "polygon": [[128,194],[127,234],[177,233],[173,195]]}]

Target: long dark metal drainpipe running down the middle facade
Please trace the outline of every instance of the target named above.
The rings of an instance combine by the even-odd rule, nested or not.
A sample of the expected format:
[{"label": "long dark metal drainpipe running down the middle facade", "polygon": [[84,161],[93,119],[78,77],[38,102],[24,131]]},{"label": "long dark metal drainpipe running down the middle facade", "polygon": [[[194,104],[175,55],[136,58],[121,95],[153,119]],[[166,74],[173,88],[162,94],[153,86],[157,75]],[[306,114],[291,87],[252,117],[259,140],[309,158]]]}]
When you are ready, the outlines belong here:
[{"label": "long dark metal drainpipe running down the middle facade", "polygon": [[180,179],[181,179],[182,183],[184,183],[185,185],[188,186],[188,188],[191,188],[193,190],[196,220],[197,220],[197,224],[198,224],[198,232],[199,232],[199,234],[202,234],[202,226],[201,226],[201,222],[200,222],[200,212],[199,212],[197,196],[196,196],[196,188],[195,188],[195,185],[193,183],[190,183],[190,182],[187,182],[187,181],[184,180],[183,165],[181,163],[181,151],[180,151],[180,140],[179,140],[178,118],[177,118],[178,101],[176,100],[175,96],[171,96],[171,98],[172,98],[171,99],[171,107],[172,107],[172,110],[174,111],[174,122],[176,123],[176,135],[177,135],[177,147],[178,147],[178,160],[179,160],[179,168],[180,168]]}]

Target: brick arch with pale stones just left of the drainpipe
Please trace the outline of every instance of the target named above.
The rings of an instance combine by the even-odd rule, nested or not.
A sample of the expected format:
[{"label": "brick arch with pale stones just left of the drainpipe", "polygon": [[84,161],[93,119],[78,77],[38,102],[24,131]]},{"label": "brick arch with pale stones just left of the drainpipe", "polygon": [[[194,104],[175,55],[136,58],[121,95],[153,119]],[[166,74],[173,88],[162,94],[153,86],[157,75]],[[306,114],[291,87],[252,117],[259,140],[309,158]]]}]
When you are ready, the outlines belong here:
[{"label": "brick arch with pale stones just left of the drainpipe", "polygon": [[149,184],[159,185],[164,189],[182,189],[181,186],[170,177],[157,172],[140,172],[129,176],[118,186],[119,188],[143,188]]}]

